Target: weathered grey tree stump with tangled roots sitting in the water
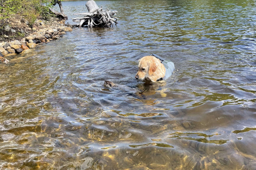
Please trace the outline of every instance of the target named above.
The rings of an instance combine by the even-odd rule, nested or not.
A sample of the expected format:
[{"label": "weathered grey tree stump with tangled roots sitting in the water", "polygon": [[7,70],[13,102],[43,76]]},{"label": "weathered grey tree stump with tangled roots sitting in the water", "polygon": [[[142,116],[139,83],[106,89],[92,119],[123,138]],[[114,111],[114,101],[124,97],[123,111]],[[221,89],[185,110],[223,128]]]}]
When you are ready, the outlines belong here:
[{"label": "weathered grey tree stump with tangled roots sitting in the water", "polygon": [[106,11],[102,10],[102,7],[99,8],[94,0],[87,1],[86,5],[88,12],[74,14],[74,15],[82,15],[83,17],[73,18],[73,22],[77,22],[79,24],[75,25],[77,27],[88,26],[92,27],[109,27],[113,26],[114,23],[117,24],[117,18],[113,15],[116,14],[117,11]]}]

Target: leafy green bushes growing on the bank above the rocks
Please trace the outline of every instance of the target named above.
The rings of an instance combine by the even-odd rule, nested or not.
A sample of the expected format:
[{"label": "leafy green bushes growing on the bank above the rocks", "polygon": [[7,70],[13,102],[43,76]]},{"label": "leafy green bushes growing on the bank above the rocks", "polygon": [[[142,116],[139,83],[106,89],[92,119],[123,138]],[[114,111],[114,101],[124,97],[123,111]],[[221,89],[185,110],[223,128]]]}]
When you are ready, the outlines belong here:
[{"label": "leafy green bushes growing on the bank above the rocks", "polygon": [[32,26],[37,17],[48,19],[51,0],[0,0],[0,29],[8,23],[11,16],[20,15]]}]

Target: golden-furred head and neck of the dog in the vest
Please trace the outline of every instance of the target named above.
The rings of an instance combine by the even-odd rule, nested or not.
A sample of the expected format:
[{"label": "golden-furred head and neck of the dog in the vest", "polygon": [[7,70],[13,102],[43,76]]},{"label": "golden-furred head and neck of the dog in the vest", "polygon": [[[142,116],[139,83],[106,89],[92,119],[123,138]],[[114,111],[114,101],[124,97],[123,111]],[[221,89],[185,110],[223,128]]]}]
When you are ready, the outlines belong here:
[{"label": "golden-furred head and neck of the dog in the vest", "polygon": [[164,65],[154,56],[145,56],[139,60],[139,71],[135,78],[138,80],[150,80],[156,82],[157,79],[164,77],[166,69]]}]

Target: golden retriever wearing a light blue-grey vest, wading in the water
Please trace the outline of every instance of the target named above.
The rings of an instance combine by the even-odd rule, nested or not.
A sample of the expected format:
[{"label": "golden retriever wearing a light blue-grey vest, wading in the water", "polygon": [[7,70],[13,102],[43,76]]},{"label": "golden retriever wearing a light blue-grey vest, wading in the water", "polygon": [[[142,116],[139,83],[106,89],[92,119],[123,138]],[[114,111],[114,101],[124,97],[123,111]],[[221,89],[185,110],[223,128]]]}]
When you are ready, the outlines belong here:
[{"label": "golden retriever wearing a light blue-grey vest, wading in the water", "polygon": [[[154,56],[145,56],[139,59],[139,71],[135,78],[137,80],[149,80],[157,82],[167,79],[172,75],[175,69],[174,63],[161,59],[156,54]],[[161,59],[161,60],[160,60]]]}]

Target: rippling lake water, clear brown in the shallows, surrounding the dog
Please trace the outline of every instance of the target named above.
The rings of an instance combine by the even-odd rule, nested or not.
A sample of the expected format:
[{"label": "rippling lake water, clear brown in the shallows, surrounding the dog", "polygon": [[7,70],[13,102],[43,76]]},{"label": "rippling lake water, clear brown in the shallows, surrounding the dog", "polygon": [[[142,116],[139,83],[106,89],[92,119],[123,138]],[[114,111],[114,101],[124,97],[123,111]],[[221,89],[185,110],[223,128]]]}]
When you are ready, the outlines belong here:
[{"label": "rippling lake water, clear brown in the shallows, surrounding the dog", "polygon": [[[85,3],[63,2],[67,22]],[[0,169],[255,170],[255,1],[96,3],[117,26],[75,28],[0,65]],[[151,53],[174,74],[137,82]]]}]

